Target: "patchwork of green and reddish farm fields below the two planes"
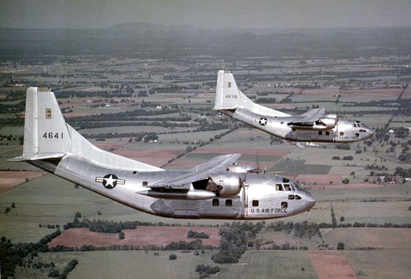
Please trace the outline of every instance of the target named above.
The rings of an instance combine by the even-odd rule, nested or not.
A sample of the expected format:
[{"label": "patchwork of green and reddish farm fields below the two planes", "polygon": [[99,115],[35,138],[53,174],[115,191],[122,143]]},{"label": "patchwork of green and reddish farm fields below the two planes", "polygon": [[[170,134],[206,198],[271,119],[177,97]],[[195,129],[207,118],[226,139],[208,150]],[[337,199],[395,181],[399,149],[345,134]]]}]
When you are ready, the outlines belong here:
[{"label": "patchwork of green and reddish farm fields below the two planes", "polygon": [[[409,33],[396,31],[402,35],[389,48],[383,44],[386,37],[369,31],[375,36],[364,42],[369,51],[351,51],[322,39],[321,47],[295,51],[283,45],[295,36],[286,31],[284,42],[271,42],[262,34],[268,44],[256,41],[260,47],[252,49],[237,44],[238,52],[229,56],[208,42],[190,44],[187,53],[173,42],[167,51],[153,42],[127,48],[111,40],[105,47],[81,49],[79,40],[88,34],[79,31],[72,38],[78,44],[69,53],[59,38],[53,49],[30,41],[25,55],[0,52],[0,237],[38,243],[60,230],[48,247],[64,245],[74,251],[39,252],[33,261],[53,262],[61,271],[76,258],[78,265],[68,278],[198,278],[198,265],[219,267],[211,278],[410,277],[411,229],[406,225],[411,224],[411,61],[408,41],[403,40]],[[307,32],[320,38],[321,31]],[[324,38],[336,36],[323,32]],[[357,40],[362,34],[338,32],[341,40]],[[138,41],[133,36],[130,40]],[[297,38],[301,41],[293,44],[299,46],[310,40]],[[37,43],[47,55],[33,53],[30,47]],[[268,107],[302,114],[318,105],[341,118],[364,122],[375,136],[349,145],[310,145],[250,129],[212,110],[220,69],[232,70],[238,88],[253,100],[275,98],[275,103],[262,103]],[[99,148],[168,170],[188,170],[216,155],[241,153],[240,165],[294,178],[314,195],[316,204],[309,213],[286,218],[282,230],[272,228],[282,220],[267,220],[238,263],[214,263],[211,258],[218,249],[203,254],[201,249],[158,250],[193,240],[188,230],[204,230],[210,239],[202,239],[203,244],[218,247],[223,241],[219,230],[231,221],[149,215],[27,163],[5,161],[22,153],[24,106],[18,104],[27,87],[39,84],[53,88],[66,121]],[[75,220],[147,224],[123,229],[125,239],[119,239],[119,233],[64,229]],[[323,225],[301,236],[287,228],[288,222]],[[336,250],[340,243],[344,250]],[[127,249],[151,248],[124,250],[123,244]],[[110,250],[111,245],[123,250]],[[170,260],[170,254],[177,259]],[[30,256],[25,257],[24,266],[16,268],[16,278],[47,278],[48,271],[29,261]]]}]

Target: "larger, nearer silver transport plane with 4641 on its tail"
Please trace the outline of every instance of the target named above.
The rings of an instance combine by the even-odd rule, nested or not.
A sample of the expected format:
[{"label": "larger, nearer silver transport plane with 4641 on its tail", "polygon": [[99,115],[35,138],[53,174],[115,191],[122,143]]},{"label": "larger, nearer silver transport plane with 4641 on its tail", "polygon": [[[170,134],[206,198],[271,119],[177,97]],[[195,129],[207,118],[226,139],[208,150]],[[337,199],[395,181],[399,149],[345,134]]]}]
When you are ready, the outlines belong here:
[{"label": "larger, nearer silver transport plane with 4641 on its tail", "polygon": [[42,170],[139,211],[173,218],[269,219],[296,215],[315,203],[297,182],[232,168],[221,155],[183,171],[121,157],[92,145],[69,124],[51,90],[29,88],[23,156]]}]

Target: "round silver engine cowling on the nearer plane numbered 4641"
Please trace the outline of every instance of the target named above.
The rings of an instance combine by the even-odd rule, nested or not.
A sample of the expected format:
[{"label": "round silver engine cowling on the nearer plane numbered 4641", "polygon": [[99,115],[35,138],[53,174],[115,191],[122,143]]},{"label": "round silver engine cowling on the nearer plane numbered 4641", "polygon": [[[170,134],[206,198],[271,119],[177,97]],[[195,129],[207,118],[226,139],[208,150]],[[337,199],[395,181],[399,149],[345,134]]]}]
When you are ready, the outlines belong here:
[{"label": "round silver engine cowling on the nearer plane numbered 4641", "polygon": [[241,181],[238,174],[213,174],[210,176],[208,190],[216,190],[220,196],[235,196],[240,193],[240,189]]}]

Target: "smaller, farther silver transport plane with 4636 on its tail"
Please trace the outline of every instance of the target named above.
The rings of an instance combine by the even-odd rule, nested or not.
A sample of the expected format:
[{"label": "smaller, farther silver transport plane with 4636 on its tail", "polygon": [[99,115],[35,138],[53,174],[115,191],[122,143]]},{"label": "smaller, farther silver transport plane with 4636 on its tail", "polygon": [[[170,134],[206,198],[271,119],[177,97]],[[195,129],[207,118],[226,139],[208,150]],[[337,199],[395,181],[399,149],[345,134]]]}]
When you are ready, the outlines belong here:
[{"label": "smaller, farther silver transport plane with 4636 on its tail", "polygon": [[369,139],[373,131],[362,122],[310,109],[300,116],[253,103],[238,90],[232,72],[220,70],[214,110],[271,135],[295,142],[358,142]]}]

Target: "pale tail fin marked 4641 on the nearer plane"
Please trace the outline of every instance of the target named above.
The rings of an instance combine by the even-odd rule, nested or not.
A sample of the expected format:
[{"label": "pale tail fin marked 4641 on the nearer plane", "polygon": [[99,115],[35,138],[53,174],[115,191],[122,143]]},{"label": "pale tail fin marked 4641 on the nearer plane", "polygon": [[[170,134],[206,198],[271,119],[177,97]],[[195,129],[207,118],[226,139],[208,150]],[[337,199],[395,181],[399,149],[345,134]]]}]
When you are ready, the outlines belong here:
[{"label": "pale tail fin marked 4641 on the nearer plane", "polygon": [[51,90],[27,89],[23,156],[10,161],[58,159],[66,155],[75,155],[112,169],[162,170],[97,148],[66,124]]}]

